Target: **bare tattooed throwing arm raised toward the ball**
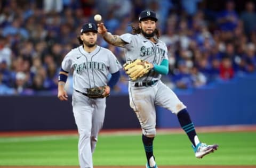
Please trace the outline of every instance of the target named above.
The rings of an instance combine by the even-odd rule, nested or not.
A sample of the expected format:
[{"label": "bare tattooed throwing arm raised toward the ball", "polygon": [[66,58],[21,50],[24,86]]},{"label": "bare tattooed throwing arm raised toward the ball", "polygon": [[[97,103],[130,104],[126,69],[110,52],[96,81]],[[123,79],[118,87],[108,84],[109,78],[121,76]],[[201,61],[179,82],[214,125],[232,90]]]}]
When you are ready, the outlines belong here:
[{"label": "bare tattooed throwing arm raised toward the ball", "polygon": [[123,41],[118,35],[112,35],[106,27],[104,23],[98,23],[98,33],[103,36],[103,38],[107,41],[107,43],[117,46],[123,47],[126,43]]}]

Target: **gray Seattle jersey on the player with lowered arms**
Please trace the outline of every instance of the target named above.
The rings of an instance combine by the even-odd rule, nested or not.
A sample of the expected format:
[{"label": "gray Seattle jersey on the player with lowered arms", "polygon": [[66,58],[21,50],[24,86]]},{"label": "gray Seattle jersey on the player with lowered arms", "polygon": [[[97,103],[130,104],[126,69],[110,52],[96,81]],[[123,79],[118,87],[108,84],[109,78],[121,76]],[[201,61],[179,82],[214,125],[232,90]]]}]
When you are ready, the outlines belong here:
[{"label": "gray Seattle jersey on the player with lowered arms", "polygon": [[73,87],[86,92],[86,88],[106,86],[108,74],[117,72],[122,66],[115,55],[106,48],[97,46],[91,53],[83,46],[72,49],[62,61],[62,69],[74,68]]}]

